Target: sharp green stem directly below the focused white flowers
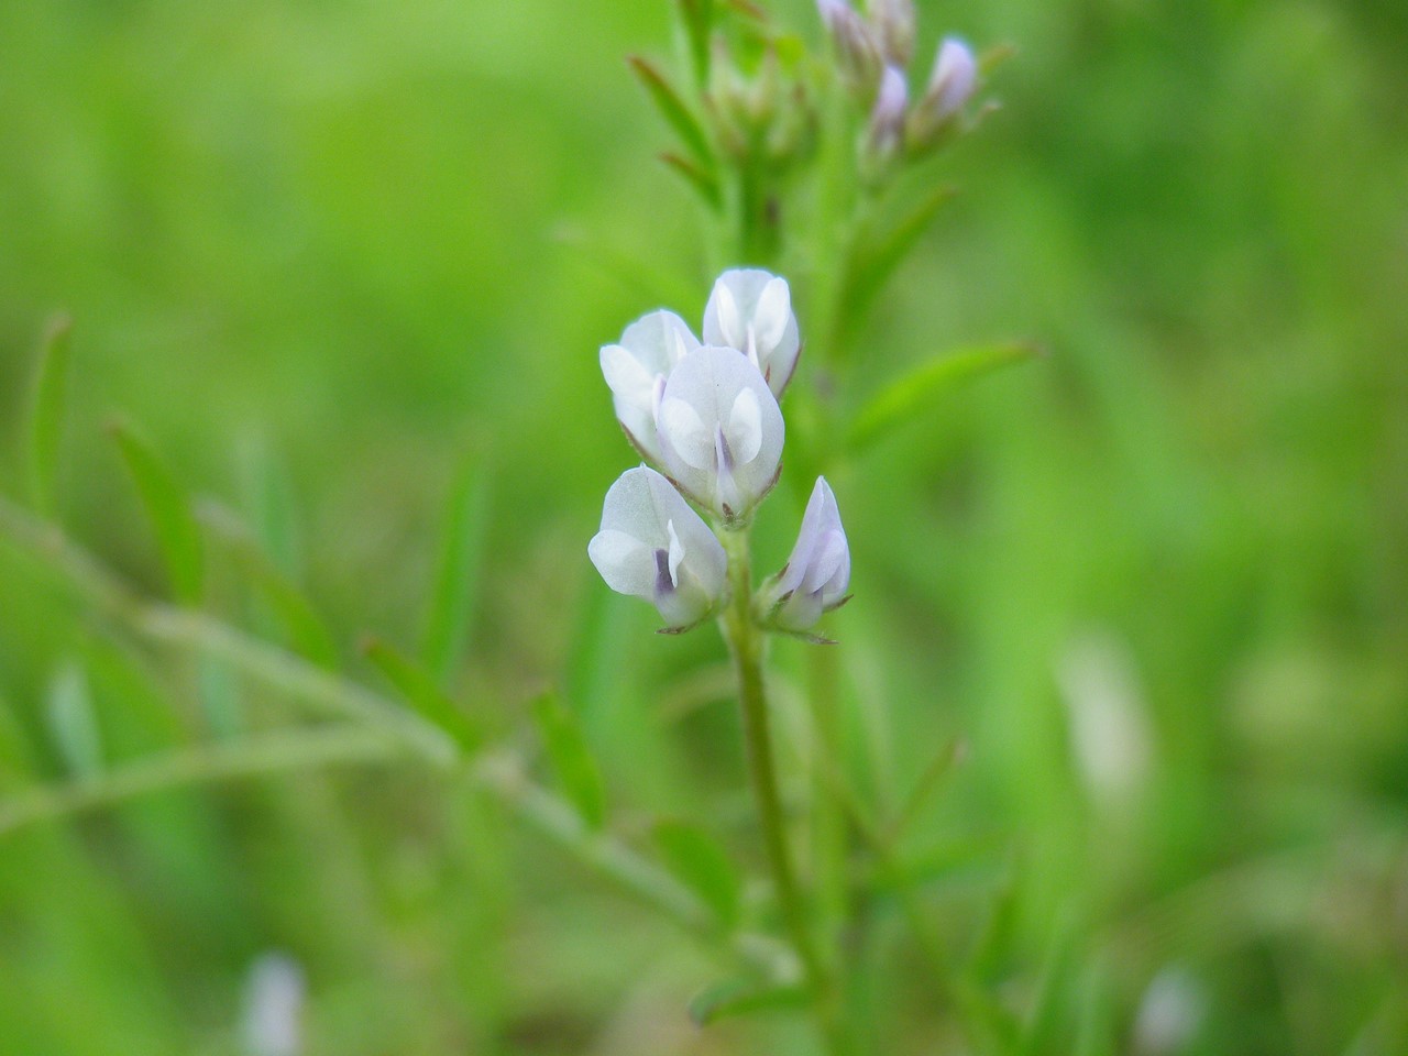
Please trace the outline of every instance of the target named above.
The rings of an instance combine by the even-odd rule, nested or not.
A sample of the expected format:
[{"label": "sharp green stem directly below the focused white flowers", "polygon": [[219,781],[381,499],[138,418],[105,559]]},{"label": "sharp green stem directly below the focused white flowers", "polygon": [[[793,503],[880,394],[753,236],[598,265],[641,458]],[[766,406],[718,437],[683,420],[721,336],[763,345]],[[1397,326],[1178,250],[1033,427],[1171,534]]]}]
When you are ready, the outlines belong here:
[{"label": "sharp green stem directly below the focused white flowers", "polygon": [[753,622],[752,614],[753,580],[748,529],[725,529],[721,535],[724,549],[728,552],[731,597],[719,622],[738,676],[738,701],[743,711],[748,772],[752,779],[753,797],[758,801],[758,819],[763,834],[763,846],[767,850],[767,865],[773,874],[773,887],[777,891],[783,921],[807,973],[807,986],[812,993],[814,1008],[828,1050],[843,1053],[848,1046],[845,1032],[836,1018],[835,994],[826,967],[817,952],[807,905],[803,901],[801,888],[797,886],[791,852],[787,848],[786,819],[781,796],[777,790],[777,770],[773,765],[767,693],[763,686],[763,632]]}]

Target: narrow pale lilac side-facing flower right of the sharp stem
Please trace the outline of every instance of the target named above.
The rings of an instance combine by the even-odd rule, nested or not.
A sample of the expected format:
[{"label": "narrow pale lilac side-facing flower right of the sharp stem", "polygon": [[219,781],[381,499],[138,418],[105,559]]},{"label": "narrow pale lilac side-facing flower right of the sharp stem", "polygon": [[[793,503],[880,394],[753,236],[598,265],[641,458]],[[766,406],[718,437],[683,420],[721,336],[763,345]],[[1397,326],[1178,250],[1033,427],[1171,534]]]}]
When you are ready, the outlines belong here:
[{"label": "narrow pale lilac side-facing flower right of the sharp stem", "polygon": [[801,518],[791,556],[759,591],[759,607],[769,624],[783,631],[805,631],[821,614],[846,600],[850,586],[850,546],[841,527],[841,511],[831,484],[817,486]]}]

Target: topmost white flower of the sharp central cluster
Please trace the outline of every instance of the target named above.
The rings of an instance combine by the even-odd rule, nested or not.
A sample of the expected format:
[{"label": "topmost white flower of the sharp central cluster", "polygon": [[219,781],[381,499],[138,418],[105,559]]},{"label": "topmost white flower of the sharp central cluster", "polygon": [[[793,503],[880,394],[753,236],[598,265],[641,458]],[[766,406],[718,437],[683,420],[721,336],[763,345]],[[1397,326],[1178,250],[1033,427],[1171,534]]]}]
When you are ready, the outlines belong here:
[{"label": "topmost white flower of the sharp central cluster", "polygon": [[724,272],[704,307],[704,344],[736,348],[780,397],[801,352],[787,280],[756,268]]}]

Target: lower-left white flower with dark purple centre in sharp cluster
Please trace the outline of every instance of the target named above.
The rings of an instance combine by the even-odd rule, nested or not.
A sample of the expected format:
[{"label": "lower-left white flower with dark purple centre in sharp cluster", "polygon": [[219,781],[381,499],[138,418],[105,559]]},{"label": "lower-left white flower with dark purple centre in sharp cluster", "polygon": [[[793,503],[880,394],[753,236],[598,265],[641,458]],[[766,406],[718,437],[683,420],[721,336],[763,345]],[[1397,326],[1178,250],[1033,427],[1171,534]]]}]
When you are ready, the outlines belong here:
[{"label": "lower-left white flower with dark purple centre in sharp cluster", "polygon": [[663,476],[628,469],[607,491],[587,555],[611,590],[653,604],[673,631],[704,620],[724,596],[728,558]]}]

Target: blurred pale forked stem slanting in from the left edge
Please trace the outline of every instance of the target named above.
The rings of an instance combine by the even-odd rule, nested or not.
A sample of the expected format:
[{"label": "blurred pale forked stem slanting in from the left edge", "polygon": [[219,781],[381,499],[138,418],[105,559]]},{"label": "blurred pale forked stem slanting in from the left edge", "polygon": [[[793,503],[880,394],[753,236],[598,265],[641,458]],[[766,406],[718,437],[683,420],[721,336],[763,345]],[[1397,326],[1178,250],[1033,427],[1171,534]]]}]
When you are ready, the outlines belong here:
[{"label": "blurred pale forked stem slanting in from the left edge", "polygon": [[[194,653],[217,655],[291,698],[318,705],[356,725],[279,732],[197,746],[96,776],[89,783],[8,793],[0,797],[0,836],[28,824],[110,807],[145,794],[203,781],[232,780],[300,766],[418,758],[445,770],[463,760],[438,727],[396,701],[324,670],[277,645],[221,621],[141,597],[86,549],[48,521],[0,498],[0,541],[58,572],[87,604],[141,638]],[[467,777],[521,821],[638,901],[660,911],[710,946],[776,974],[791,953],[765,936],[724,932],[710,910],[673,876],[610,834],[589,829],[576,812],[522,773],[508,752],[482,752]]]}]

